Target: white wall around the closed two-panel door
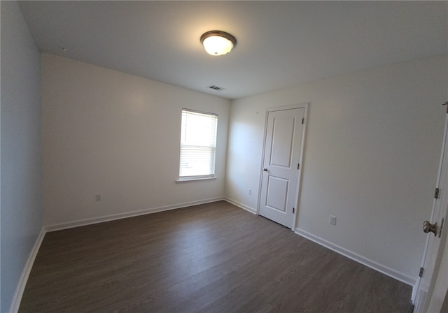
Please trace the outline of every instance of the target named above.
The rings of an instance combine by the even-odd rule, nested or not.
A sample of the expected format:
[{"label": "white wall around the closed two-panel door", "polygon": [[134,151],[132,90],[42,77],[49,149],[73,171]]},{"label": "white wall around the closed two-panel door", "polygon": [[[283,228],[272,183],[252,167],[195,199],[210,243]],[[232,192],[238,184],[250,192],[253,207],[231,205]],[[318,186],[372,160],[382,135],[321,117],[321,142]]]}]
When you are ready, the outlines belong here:
[{"label": "white wall around the closed two-panel door", "polygon": [[440,159],[447,61],[405,61],[233,101],[228,198],[256,210],[265,110],[309,102],[297,232],[413,284]]}]

